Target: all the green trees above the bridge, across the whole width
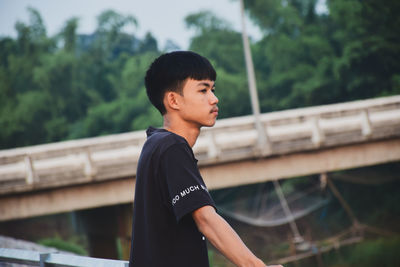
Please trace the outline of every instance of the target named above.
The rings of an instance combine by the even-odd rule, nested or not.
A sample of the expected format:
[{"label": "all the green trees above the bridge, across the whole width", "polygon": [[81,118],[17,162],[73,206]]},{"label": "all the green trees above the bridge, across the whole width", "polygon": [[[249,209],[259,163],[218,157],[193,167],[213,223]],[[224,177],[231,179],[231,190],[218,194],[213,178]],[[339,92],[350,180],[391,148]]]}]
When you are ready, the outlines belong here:
[{"label": "all the green trees above the bridge, across the whole width", "polygon": [[[263,112],[400,94],[400,2],[245,0]],[[37,10],[0,39],[0,148],[144,129],[162,118],[143,77],[162,53],[132,15],[105,10],[91,35],[71,18],[49,37]],[[251,113],[241,34],[209,11],[185,18],[190,50],[209,58],[220,118]],[[129,31],[128,31],[129,30]],[[170,42],[166,49],[177,49]]]}]

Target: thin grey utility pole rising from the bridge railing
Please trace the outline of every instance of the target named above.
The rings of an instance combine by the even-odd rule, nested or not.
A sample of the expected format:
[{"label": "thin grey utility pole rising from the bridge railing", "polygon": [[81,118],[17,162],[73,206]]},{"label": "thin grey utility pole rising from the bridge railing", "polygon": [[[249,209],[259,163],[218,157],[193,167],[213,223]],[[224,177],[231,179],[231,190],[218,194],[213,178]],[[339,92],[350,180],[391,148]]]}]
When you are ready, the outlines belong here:
[{"label": "thin grey utility pole rising from the bridge railing", "polygon": [[244,48],[244,58],[246,61],[246,70],[247,70],[247,81],[249,84],[250,90],[250,99],[251,99],[251,108],[253,110],[253,116],[255,120],[255,126],[257,130],[257,143],[258,143],[258,152],[261,155],[267,155],[270,152],[270,146],[268,142],[268,136],[265,131],[265,127],[261,122],[260,116],[260,104],[258,102],[258,94],[257,94],[257,85],[256,85],[256,77],[254,74],[254,65],[253,59],[251,56],[249,38],[247,36],[246,31],[246,22],[244,15],[244,3],[243,0],[240,1],[240,13],[242,19],[242,40],[243,40],[243,48]]}]

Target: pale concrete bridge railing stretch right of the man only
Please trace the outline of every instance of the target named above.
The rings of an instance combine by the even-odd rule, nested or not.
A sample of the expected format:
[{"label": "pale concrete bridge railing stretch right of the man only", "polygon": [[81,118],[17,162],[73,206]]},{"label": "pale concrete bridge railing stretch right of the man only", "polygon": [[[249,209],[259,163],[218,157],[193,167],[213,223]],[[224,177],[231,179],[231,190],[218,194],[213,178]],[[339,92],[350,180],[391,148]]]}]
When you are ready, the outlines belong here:
[{"label": "pale concrete bridge railing stretch right of the man only", "polygon": [[[271,156],[389,138],[400,134],[400,96],[271,112],[261,123]],[[244,116],[202,130],[194,151],[212,163],[256,157],[256,145],[254,117]]]}]

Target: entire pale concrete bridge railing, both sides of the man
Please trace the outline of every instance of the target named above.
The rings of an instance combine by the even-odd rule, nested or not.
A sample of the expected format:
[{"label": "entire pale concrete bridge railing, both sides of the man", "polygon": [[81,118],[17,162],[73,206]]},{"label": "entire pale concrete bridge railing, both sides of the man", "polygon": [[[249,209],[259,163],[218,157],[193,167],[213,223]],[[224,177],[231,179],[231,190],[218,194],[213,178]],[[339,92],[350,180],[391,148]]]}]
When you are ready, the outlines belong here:
[{"label": "entire pale concrete bridge railing, both sides of the man", "polygon": [[[269,151],[259,154],[253,116],[218,120],[194,146],[200,165],[400,137],[400,96],[261,115]],[[145,132],[0,151],[0,194],[134,177]]]}]

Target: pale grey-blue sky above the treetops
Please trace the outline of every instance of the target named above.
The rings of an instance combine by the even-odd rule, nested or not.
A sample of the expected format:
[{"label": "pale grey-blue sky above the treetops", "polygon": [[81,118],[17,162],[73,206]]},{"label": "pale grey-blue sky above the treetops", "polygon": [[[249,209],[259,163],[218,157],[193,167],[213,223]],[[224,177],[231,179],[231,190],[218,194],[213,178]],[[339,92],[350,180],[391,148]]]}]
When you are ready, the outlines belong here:
[{"label": "pale grey-blue sky above the treetops", "polygon": [[[78,17],[78,33],[92,33],[96,29],[96,17],[106,9],[122,15],[133,15],[139,23],[135,29],[127,29],[142,38],[151,32],[163,48],[168,39],[181,49],[188,49],[192,30],[185,27],[184,18],[202,10],[211,10],[218,17],[230,22],[234,29],[241,29],[238,0],[0,0],[0,36],[16,37],[16,21],[29,23],[27,7],[36,8],[52,36],[65,22]],[[247,32],[251,38],[261,38],[261,33],[250,19],[246,19]]]}]

